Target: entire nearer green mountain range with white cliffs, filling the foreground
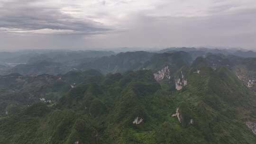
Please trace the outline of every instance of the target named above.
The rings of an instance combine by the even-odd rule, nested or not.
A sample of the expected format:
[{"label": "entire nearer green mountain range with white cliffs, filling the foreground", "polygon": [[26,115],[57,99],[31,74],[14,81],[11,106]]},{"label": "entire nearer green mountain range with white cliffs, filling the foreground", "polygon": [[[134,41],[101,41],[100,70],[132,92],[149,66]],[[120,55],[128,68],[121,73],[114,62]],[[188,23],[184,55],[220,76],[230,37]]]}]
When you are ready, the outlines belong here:
[{"label": "entire nearer green mountain range with white cliffs, filling the foreground", "polygon": [[256,142],[256,58],[140,51],[75,68],[0,76],[0,144]]}]

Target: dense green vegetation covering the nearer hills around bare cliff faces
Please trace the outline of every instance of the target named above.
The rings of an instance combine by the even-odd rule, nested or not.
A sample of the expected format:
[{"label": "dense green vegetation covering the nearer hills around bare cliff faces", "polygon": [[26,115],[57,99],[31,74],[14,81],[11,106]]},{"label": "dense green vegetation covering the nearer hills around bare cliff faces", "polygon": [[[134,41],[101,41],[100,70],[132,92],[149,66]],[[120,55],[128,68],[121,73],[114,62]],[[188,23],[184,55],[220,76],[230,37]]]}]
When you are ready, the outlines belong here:
[{"label": "dense green vegetation covering the nearer hills around bare cliff faces", "polygon": [[[55,96],[54,103],[27,106],[5,99],[2,107],[9,114],[0,117],[0,144],[255,144],[256,135],[246,126],[256,121],[255,93],[223,63],[212,67],[221,56],[190,65],[186,53],[176,54],[145,64],[153,70],[106,76],[95,70],[68,72],[64,82],[34,81],[41,88],[36,92]],[[153,73],[165,64],[175,72],[157,82]],[[170,88],[174,75],[183,77],[181,71],[188,84]]]}]

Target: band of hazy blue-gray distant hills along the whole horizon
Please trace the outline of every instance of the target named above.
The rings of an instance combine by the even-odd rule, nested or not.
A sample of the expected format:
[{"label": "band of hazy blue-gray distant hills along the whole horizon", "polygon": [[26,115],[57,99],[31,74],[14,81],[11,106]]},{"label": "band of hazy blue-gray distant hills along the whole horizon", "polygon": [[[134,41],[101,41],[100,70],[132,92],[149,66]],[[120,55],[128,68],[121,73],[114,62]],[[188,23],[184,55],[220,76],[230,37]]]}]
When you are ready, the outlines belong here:
[{"label": "band of hazy blue-gray distant hills along the whole horizon", "polygon": [[[172,47],[159,51],[115,53],[113,51],[72,51],[72,50],[24,50],[18,52],[0,52],[0,74],[20,73],[30,74],[59,74],[72,70],[98,69],[103,73],[124,72],[143,68],[157,53],[174,53],[183,51],[193,59],[198,56],[211,54],[235,55],[240,57],[256,57],[256,52],[236,49],[210,49]],[[120,61],[121,60],[121,61]]]}]

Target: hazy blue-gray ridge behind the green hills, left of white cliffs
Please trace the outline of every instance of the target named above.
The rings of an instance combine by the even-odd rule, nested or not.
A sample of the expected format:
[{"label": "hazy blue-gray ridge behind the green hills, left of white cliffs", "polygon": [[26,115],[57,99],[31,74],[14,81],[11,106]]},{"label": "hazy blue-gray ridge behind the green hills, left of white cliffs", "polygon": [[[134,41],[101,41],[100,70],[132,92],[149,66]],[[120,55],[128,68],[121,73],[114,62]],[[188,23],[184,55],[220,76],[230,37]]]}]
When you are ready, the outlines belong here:
[{"label": "hazy blue-gray ridge behind the green hills, left of white cliffs", "polygon": [[102,73],[126,72],[141,69],[158,70],[168,64],[183,65],[191,61],[191,56],[185,52],[175,52],[173,54],[155,54],[149,52],[126,52],[101,57],[95,61],[82,63],[77,69],[97,69]]}]

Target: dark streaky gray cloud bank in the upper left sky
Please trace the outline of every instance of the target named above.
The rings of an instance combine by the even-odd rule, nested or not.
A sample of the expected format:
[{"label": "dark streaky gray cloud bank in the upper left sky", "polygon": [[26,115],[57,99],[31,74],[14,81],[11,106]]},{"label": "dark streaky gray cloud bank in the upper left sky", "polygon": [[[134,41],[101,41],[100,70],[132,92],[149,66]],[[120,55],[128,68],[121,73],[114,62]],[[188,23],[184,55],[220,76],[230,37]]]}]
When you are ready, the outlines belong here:
[{"label": "dark streaky gray cloud bank in the upper left sky", "polygon": [[110,30],[101,23],[88,19],[73,18],[59,8],[33,6],[39,0],[15,0],[3,2],[0,9],[0,27],[27,30],[73,30],[79,34],[99,33]]}]

